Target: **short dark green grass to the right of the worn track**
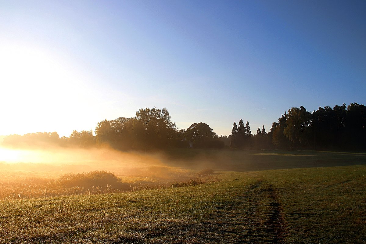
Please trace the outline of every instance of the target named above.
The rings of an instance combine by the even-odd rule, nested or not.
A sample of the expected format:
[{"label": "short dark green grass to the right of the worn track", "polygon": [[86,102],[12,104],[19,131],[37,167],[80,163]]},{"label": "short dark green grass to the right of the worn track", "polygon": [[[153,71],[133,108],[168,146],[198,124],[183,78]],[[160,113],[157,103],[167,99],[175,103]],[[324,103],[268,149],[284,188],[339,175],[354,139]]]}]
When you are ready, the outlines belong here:
[{"label": "short dark green grass to the right of the worn track", "polygon": [[279,194],[289,243],[363,243],[366,166],[262,172]]}]

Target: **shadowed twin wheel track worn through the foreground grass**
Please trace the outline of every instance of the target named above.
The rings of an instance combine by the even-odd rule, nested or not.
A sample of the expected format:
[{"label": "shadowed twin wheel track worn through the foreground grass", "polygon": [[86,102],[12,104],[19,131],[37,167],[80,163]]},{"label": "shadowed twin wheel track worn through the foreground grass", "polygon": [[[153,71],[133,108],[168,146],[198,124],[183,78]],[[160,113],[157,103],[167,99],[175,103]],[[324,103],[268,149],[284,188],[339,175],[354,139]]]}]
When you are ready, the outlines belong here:
[{"label": "shadowed twin wheel track worn through the foreground grass", "polygon": [[284,243],[285,224],[277,191],[261,179],[211,216],[204,228],[215,232],[210,243]]}]

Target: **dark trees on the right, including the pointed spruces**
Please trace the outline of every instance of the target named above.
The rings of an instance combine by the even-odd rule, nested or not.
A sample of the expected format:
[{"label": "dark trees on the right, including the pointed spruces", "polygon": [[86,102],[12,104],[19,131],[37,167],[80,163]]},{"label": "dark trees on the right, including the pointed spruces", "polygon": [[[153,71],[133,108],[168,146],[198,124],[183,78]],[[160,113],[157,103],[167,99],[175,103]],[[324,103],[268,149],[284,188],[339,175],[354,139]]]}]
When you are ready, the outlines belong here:
[{"label": "dark trees on the right, including the pointed spruces", "polygon": [[366,151],[366,107],[351,103],[325,106],[309,112],[303,106],[291,108],[273,122],[270,132],[264,126],[247,133],[249,122],[238,127],[234,122],[230,139],[232,149],[308,149]]}]

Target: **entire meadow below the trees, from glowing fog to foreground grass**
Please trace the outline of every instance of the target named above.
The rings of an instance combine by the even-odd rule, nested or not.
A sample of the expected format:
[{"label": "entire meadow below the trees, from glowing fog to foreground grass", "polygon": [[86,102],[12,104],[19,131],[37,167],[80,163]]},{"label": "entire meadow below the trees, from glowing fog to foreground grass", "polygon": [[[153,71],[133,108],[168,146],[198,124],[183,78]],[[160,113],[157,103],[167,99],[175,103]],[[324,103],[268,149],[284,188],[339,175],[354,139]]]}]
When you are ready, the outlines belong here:
[{"label": "entire meadow below the trees, from glowing fog to foreground grass", "polygon": [[365,153],[1,152],[12,159],[0,163],[1,243],[361,243],[366,235]]}]

